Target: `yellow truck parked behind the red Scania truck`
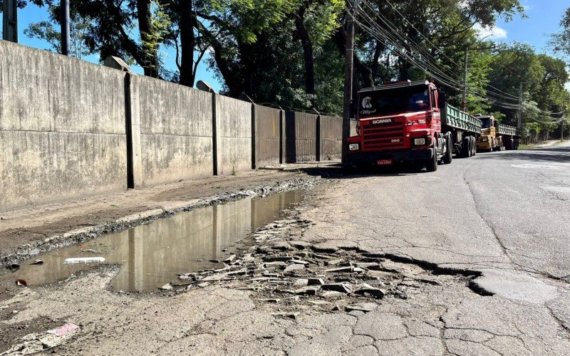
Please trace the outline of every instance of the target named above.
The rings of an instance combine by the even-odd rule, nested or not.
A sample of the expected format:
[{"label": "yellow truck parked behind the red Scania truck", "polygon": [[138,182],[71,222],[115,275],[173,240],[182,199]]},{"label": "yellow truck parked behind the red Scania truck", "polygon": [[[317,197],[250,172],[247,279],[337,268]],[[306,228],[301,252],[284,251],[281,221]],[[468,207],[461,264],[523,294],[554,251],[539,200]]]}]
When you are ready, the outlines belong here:
[{"label": "yellow truck parked behind the red Scania truck", "polygon": [[521,135],[517,127],[499,124],[490,115],[473,116],[481,120],[481,135],[477,137],[478,151],[518,150]]}]

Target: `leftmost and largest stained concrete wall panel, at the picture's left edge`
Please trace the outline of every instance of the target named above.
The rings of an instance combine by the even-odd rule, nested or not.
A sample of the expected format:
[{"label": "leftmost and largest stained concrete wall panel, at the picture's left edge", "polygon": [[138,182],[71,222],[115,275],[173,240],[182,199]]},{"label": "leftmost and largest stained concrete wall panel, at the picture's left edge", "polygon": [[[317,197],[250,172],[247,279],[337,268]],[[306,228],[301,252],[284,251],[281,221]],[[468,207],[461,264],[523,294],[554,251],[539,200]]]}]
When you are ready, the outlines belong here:
[{"label": "leftmost and largest stained concrete wall panel, at the picture's left edge", "polygon": [[0,41],[0,211],[126,187],[124,79]]}]

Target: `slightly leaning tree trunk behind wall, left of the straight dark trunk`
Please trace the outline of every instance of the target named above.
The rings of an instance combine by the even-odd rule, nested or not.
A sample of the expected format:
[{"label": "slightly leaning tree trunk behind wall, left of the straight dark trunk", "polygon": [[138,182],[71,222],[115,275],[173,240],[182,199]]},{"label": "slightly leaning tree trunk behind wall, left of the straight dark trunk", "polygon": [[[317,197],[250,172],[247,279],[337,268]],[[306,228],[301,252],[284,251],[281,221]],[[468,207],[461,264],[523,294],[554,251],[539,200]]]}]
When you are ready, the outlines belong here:
[{"label": "slightly leaning tree trunk behind wall, left of the straight dark trunk", "polygon": [[137,1],[137,18],[140,39],[142,41],[145,75],[158,78],[158,44],[152,39],[152,21],[150,19],[150,0]]}]

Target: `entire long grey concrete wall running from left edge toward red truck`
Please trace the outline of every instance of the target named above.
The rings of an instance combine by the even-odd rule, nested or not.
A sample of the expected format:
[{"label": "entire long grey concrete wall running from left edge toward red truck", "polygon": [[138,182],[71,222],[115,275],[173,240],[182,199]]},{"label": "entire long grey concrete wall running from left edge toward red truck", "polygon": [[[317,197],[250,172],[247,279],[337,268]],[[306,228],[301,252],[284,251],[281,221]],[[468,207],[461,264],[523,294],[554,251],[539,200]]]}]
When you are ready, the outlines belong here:
[{"label": "entire long grey concrete wall running from left edge toward red truck", "polygon": [[120,62],[122,70],[0,41],[0,211],[237,174],[285,153],[287,162],[336,158],[340,120],[284,117]]}]

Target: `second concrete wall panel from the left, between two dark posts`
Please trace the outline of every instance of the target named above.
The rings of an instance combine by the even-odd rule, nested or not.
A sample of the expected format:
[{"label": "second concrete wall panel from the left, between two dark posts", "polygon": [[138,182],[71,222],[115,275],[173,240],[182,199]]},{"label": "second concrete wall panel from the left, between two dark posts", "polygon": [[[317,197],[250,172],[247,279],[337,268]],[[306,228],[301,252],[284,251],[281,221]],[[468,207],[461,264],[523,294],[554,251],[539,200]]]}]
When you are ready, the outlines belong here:
[{"label": "second concrete wall panel from the left, between two dark posts", "polygon": [[212,94],[136,76],[140,103],[142,183],[213,174]]}]

